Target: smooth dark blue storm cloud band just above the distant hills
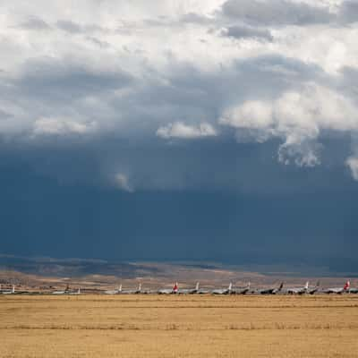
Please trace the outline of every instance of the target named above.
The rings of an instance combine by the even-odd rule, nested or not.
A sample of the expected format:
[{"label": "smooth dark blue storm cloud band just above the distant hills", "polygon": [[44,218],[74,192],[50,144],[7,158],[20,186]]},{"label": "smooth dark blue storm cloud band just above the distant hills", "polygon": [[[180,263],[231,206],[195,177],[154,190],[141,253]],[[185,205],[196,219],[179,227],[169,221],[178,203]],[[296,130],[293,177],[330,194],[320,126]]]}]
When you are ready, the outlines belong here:
[{"label": "smooth dark blue storm cloud band just above the distant hills", "polygon": [[[141,156],[148,166],[157,150],[158,176],[186,163],[183,179],[192,180],[185,190],[132,193],[100,184],[93,147],[25,156],[3,149],[0,251],[350,269],[358,249],[356,183],[341,167],[280,166],[270,160],[275,146],[201,142],[189,156],[185,147],[161,155],[153,146],[136,152],[122,144],[123,156]],[[106,150],[103,143],[100,148]]]}]

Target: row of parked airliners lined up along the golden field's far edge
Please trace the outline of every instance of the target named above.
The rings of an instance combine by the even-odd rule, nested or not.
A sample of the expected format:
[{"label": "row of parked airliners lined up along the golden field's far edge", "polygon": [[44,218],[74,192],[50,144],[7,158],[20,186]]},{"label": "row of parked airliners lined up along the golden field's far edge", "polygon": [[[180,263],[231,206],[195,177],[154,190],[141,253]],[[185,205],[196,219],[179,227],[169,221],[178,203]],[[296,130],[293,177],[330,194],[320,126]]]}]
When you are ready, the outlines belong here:
[{"label": "row of parked airliners lined up along the golden field's far edge", "polygon": [[[172,288],[165,288],[159,290],[142,290],[141,284],[137,289],[125,290],[120,285],[115,290],[104,291],[104,294],[358,294],[358,288],[352,288],[349,281],[345,282],[344,286],[332,287],[322,289],[320,288],[320,281],[315,286],[310,286],[307,281],[304,286],[299,287],[284,287],[282,282],[279,286],[251,289],[251,283],[244,287],[234,287],[232,283],[227,288],[205,289],[200,288],[199,282],[192,288],[179,288],[178,283]],[[12,289],[2,289],[0,286],[0,294],[30,294],[27,291],[16,291],[13,285]],[[81,294],[81,288],[78,290],[71,290],[67,286],[63,291],[54,291],[51,294]]]}]

